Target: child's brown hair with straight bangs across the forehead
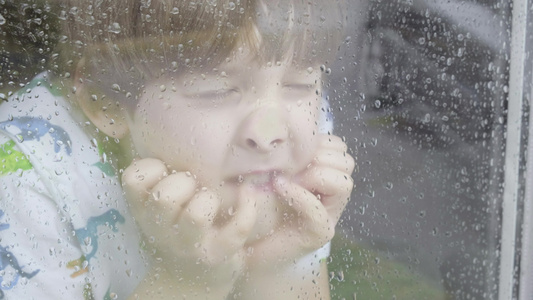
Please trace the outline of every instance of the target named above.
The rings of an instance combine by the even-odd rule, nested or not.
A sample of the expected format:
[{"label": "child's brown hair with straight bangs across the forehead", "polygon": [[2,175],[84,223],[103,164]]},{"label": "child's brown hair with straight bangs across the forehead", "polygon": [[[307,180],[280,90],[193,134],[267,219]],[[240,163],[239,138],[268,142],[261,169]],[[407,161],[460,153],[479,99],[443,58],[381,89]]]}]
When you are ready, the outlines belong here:
[{"label": "child's brown hair with straight bangs across the forehead", "polygon": [[61,6],[63,55],[83,77],[115,91],[138,90],[162,73],[212,68],[240,46],[261,61],[288,55],[309,66],[336,52],[342,29],[338,3],[326,0],[62,0]]}]

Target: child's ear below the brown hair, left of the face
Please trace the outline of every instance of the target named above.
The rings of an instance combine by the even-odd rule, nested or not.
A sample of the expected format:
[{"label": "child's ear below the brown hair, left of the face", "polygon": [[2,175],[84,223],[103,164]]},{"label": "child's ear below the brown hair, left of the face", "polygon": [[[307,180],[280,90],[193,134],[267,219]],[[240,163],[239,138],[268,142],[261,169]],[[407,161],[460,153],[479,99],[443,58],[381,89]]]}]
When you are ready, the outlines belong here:
[{"label": "child's ear below the brown hair, left of the face", "polygon": [[122,139],[129,133],[127,112],[120,103],[111,97],[96,95],[90,92],[83,76],[83,60],[78,64],[75,75],[76,100],[85,116],[104,134],[112,138]]}]

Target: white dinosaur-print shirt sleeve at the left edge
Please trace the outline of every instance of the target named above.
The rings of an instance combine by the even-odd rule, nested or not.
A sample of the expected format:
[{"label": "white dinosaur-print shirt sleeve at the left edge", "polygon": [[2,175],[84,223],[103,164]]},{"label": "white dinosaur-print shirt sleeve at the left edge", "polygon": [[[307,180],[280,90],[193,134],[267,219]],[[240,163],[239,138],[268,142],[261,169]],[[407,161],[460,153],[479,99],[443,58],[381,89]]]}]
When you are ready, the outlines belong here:
[{"label": "white dinosaur-print shirt sleeve at the left edge", "polygon": [[81,299],[83,253],[63,209],[3,135],[0,161],[0,299]]}]

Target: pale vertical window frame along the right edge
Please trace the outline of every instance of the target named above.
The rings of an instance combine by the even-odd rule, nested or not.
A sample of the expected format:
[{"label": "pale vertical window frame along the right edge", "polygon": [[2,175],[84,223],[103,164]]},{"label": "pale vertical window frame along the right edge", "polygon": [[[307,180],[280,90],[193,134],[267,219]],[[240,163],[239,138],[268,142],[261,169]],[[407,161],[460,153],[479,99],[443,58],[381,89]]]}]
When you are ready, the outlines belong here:
[{"label": "pale vertical window frame along the right edge", "polygon": [[527,184],[533,180],[533,26],[531,1],[512,5],[498,299],[525,300],[533,299],[533,187]]}]

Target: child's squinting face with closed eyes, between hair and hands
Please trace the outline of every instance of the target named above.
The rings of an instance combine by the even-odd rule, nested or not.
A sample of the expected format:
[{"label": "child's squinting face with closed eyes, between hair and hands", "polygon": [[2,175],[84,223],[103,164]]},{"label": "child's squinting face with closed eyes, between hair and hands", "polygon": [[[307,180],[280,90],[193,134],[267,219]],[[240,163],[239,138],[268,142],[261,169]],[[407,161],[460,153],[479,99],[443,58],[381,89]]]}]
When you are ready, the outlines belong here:
[{"label": "child's squinting face with closed eyes, between hair and hands", "polygon": [[228,199],[243,182],[265,198],[316,154],[320,71],[285,62],[260,66],[241,54],[214,70],[146,85],[130,122],[141,157],[189,171]]}]

